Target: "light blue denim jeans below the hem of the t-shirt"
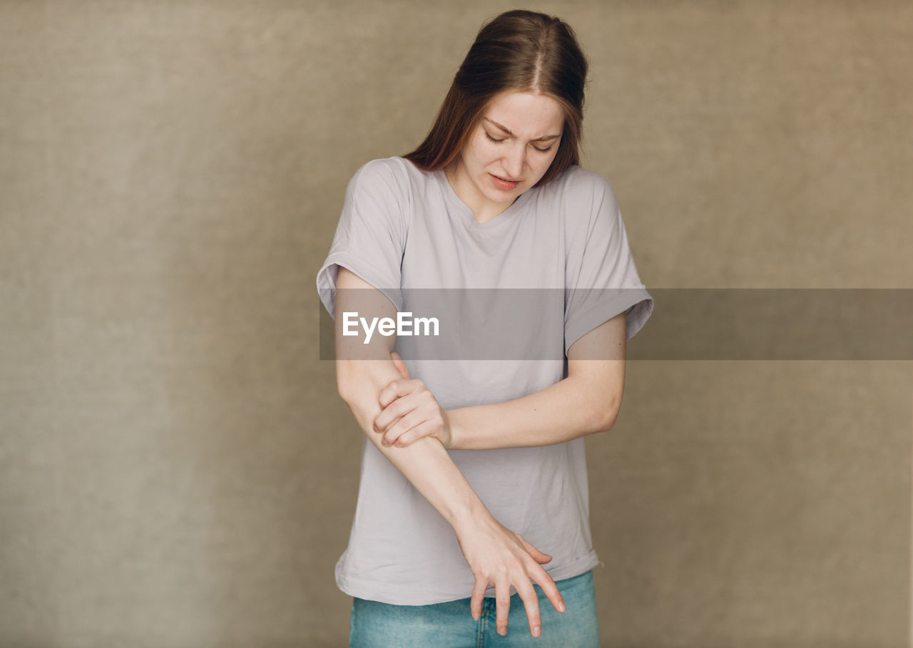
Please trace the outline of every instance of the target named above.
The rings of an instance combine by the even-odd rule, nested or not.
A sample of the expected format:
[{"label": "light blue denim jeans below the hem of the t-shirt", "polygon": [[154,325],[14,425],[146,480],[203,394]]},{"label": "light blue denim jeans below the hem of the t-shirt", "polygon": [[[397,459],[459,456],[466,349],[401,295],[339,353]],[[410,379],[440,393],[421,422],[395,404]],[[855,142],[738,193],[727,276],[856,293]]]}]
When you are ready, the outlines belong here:
[{"label": "light blue denim jeans below the hem of the t-shirt", "polygon": [[556,580],[567,611],[559,612],[539,585],[542,634],[530,634],[519,594],[510,597],[508,633],[498,634],[495,599],[482,602],[478,621],[469,611],[469,599],[432,605],[391,605],[355,598],[352,601],[350,648],[599,648],[593,571]]}]

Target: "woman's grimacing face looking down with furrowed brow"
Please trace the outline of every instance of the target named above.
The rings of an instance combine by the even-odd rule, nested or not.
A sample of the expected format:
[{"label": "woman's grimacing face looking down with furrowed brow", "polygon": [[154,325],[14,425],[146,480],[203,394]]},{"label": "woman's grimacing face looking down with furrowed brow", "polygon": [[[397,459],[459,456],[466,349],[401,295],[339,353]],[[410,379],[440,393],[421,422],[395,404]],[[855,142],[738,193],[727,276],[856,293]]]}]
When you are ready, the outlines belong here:
[{"label": "woman's grimacing face looking down with furrowed brow", "polygon": [[495,96],[447,170],[476,220],[503,212],[548,171],[561,143],[564,112],[546,95],[509,90]]}]

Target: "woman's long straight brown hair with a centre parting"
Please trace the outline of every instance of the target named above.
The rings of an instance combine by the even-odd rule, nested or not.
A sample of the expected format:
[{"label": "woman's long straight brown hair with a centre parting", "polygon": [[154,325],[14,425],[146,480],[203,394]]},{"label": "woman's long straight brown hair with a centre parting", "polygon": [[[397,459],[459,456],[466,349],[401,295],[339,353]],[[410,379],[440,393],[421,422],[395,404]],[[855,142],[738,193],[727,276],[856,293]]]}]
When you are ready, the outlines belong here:
[{"label": "woman's long straight brown hair with a centre parting", "polygon": [[403,157],[425,171],[444,169],[463,150],[495,95],[535,92],[556,99],[564,110],[561,144],[536,186],[545,184],[580,163],[587,67],[571,26],[560,18],[522,9],[505,12],[479,30],[431,131]]}]

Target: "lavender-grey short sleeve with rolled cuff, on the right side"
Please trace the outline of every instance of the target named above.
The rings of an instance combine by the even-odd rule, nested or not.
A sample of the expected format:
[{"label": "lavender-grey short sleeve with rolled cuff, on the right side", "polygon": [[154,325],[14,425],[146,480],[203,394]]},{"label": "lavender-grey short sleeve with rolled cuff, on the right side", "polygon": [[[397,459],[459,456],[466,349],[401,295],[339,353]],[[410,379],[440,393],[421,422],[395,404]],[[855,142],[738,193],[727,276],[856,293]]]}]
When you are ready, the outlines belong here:
[{"label": "lavender-grey short sleeve with rolled cuff, on the right side", "polygon": [[637,275],[612,185],[579,170],[569,187],[565,233],[564,352],[619,313],[627,339],[653,312],[653,298]]}]

